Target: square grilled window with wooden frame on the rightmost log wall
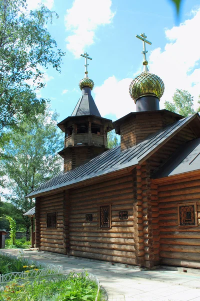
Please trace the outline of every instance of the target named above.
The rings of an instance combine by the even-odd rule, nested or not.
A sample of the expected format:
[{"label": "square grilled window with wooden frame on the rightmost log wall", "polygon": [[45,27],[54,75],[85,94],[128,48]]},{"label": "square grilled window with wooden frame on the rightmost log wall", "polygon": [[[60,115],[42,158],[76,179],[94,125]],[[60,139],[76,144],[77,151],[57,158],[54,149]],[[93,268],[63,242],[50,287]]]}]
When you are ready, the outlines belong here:
[{"label": "square grilled window with wooden frame on the rightmost log wall", "polygon": [[178,226],[197,226],[196,203],[178,204]]}]

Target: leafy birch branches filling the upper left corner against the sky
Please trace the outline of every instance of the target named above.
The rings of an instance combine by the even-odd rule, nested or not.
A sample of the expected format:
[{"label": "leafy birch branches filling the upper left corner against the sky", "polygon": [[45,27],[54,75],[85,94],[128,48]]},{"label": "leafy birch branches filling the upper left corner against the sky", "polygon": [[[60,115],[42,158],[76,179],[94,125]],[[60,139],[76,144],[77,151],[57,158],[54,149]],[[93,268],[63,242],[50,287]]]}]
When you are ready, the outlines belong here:
[{"label": "leafy birch branches filling the upper left corner against the sky", "polygon": [[0,136],[45,108],[35,89],[44,86],[44,68],[60,71],[64,55],[47,31],[54,15],[42,5],[28,11],[25,0],[0,0]]}]

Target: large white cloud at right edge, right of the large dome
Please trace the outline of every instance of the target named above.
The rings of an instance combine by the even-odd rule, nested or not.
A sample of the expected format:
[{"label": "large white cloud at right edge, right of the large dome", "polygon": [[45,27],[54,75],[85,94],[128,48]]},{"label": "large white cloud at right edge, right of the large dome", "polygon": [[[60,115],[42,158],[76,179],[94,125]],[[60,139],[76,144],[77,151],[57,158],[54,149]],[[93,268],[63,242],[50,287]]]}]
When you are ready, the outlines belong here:
[{"label": "large white cloud at right edge, right of the large dome", "polygon": [[196,38],[196,29],[200,28],[200,10],[192,19],[186,20],[180,26],[165,31],[169,40],[164,47],[154,49],[149,57],[149,70],[157,74],[164,82],[165,92],[160,101],[171,101],[175,89],[188,90],[194,96],[194,106],[197,105],[200,94],[200,41]]}]

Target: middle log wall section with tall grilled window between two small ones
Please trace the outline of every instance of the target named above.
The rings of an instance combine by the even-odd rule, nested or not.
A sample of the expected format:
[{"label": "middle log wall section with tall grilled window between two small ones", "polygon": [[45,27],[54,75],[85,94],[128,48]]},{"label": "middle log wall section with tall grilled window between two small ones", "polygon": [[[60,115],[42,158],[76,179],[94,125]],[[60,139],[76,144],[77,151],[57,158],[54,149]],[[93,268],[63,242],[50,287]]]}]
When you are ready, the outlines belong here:
[{"label": "middle log wall section with tall grilled window between two small ones", "polygon": [[[132,174],[71,190],[69,198],[70,255],[137,264],[137,255],[144,255],[144,251],[138,245],[142,236],[141,213],[138,225],[134,225],[137,207],[134,206],[133,215]],[[103,204],[111,205],[110,229],[99,227],[99,206]],[[120,220],[119,211],[127,211],[128,219]],[[86,214],[92,214],[91,222],[86,221]]]}]

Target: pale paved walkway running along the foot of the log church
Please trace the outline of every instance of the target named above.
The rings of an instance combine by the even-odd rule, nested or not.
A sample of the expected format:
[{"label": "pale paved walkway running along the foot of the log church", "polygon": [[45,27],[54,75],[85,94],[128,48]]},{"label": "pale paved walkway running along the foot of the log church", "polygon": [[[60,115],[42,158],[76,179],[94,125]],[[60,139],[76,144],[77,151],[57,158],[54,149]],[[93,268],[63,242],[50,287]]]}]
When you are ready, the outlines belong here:
[{"label": "pale paved walkway running along the foot of the log church", "polygon": [[[2,251],[16,254],[16,249]],[[60,264],[65,273],[86,269],[95,274],[109,301],[200,301],[200,271],[183,273],[165,269],[141,271],[130,266],[90,261],[72,256],[24,250],[25,257]],[[198,272],[198,270],[196,270]]]}]

